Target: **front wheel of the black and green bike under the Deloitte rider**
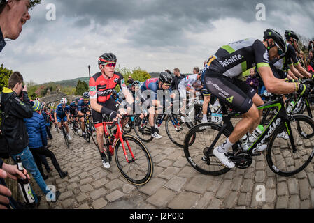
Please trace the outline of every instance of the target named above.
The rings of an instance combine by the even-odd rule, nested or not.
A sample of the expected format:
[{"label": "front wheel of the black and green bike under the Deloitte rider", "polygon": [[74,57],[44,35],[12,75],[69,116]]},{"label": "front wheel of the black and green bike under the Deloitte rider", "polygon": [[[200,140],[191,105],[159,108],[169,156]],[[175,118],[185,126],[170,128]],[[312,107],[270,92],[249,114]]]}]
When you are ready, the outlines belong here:
[{"label": "front wheel of the black and green bike under the Deloitte rider", "polygon": [[[314,121],[308,117],[301,114],[297,114],[292,116],[292,121],[290,121],[290,125],[292,126],[294,122],[296,125],[298,125],[300,122],[303,122],[304,124],[302,126],[309,125],[312,128],[312,132],[314,131]],[[298,123],[299,122],[299,123]],[[300,124],[299,124],[300,125]],[[300,127],[300,126],[299,126]],[[298,128],[298,126],[297,126]],[[299,130],[296,130],[293,132],[293,126],[292,126],[292,134],[294,137],[294,142],[297,147],[296,153],[291,153],[292,146],[290,146],[288,143],[290,143],[289,139],[286,139],[286,141],[280,141],[280,143],[276,142],[274,144],[275,140],[280,140],[278,134],[281,132],[286,131],[285,123],[281,123],[276,130],[274,130],[273,134],[271,135],[271,139],[269,139],[269,144],[267,146],[267,154],[266,154],[266,160],[267,164],[269,165],[269,168],[271,171],[273,171],[275,174],[278,174],[280,176],[292,176],[294,174],[298,174],[300,171],[302,171],[306,166],[311,162],[314,156],[314,146],[311,143],[313,141],[312,137],[313,134],[305,135],[299,132]],[[303,131],[302,131],[303,132]],[[296,134],[298,133],[298,134]],[[297,139],[297,136],[299,136],[301,139]],[[308,139],[308,143],[304,143],[304,140]],[[285,145],[285,142],[287,145]],[[304,148],[302,149],[301,145],[304,145]],[[279,148],[277,151],[277,147]],[[306,151],[306,147],[309,149]],[[290,149],[290,150],[289,150]],[[301,158],[295,158],[297,156],[297,153],[304,153],[301,155]],[[291,155],[290,155],[291,154]],[[306,159],[306,154],[308,155],[308,158]],[[283,159],[280,159],[280,157],[283,157]],[[304,164],[301,164],[299,168],[292,169],[292,163],[298,164],[300,160],[304,159]],[[282,160],[282,162],[279,162]],[[274,164],[274,161],[276,161],[276,164]],[[277,164],[279,162],[279,164]],[[285,169],[286,168],[286,169]]]}]

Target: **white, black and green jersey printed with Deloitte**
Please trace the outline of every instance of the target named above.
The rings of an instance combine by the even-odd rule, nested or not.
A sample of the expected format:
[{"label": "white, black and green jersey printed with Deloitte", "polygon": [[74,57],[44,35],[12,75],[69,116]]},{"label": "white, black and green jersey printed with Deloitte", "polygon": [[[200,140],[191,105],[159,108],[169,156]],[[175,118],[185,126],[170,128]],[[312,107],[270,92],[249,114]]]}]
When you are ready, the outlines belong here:
[{"label": "white, black and green jersey printed with Deloitte", "polygon": [[269,67],[269,53],[264,44],[255,38],[247,38],[220,47],[206,63],[208,70],[227,77],[237,77],[254,66]]}]

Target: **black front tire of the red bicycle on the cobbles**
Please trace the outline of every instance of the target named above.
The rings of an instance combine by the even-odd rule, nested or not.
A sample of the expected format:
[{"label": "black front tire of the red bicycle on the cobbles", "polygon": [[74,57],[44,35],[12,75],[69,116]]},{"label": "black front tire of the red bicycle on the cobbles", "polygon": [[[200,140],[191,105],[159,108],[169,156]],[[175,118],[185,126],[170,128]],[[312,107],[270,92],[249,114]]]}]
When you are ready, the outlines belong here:
[{"label": "black front tire of the red bicycle on the cobbles", "polygon": [[[148,183],[150,178],[152,178],[152,173],[154,171],[154,165],[152,164],[152,157],[150,155],[150,152],[148,151],[148,148],[146,148],[145,144],[143,144],[143,142],[140,139],[138,139],[132,135],[129,135],[129,134],[124,135],[123,139],[124,139],[125,150],[127,152],[129,152],[128,146],[127,146],[127,143],[129,143],[129,141],[133,141],[134,143],[136,143],[136,147],[138,146],[139,151],[135,151],[136,148],[131,148],[131,151],[134,153],[134,155],[136,155],[136,157],[135,157],[136,160],[134,160],[132,162],[127,162],[127,160],[125,160],[123,148],[122,148],[122,146],[120,146],[121,140],[118,139],[116,144],[115,144],[115,163],[117,164],[117,168],[119,169],[120,174],[122,174],[122,176],[129,183],[131,183],[133,185],[145,185],[145,183]],[[143,152],[143,155],[139,154],[141,152]],[[131,155],[129,153],[127,153],[127,156],[131,157]],[[145,173],[143,174],[143,178],[141,177],[139,179],[138,178],[135,179],[135,178],[129,176],[131,174],[131,171],[134,171],[134,169],[131,169],[131,167],[132,167],[132,164],[134,164],[133,167],[138,166],[138,165],[143,165],[141,163],[142,157],[143,157],[143,159],[145,159],[145,162],[143,162],[143,164],[146,164],[147,168],[140,167],[140,169],[141,170],[147,169],[147,171],[146,170],[144,171]],[[123,161],[125,162],[125,164],[123,163]],[[131,171],[129,173],[129,172],[126,172],[125,170],[129,170],[129,171],[131,170]],[[137,173],[138,172],[136,171],[136,176],[138,176]]]}]

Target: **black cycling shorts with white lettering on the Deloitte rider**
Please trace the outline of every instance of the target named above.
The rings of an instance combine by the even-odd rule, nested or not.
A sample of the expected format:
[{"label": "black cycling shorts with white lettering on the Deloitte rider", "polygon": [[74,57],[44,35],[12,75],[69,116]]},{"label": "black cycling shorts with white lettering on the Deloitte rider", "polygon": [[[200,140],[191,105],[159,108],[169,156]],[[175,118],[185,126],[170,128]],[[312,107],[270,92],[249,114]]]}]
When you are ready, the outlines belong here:
[{"label": "black cycling shorts with white lettering on the Deloitte rider", "polygon": [[204,82],[206,89],[219,98],[220,102],[237,112],[245,114],[253,105],[252,98],[256,91],[240,79],[207,70]]}]

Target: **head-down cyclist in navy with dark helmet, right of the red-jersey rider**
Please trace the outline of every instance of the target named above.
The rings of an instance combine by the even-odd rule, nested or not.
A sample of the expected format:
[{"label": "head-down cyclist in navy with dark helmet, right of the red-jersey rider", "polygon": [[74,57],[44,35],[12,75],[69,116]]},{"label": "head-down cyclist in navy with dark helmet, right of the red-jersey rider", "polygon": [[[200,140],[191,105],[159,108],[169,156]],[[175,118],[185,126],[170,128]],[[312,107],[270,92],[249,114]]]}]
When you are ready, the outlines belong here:
[{"label": "head-down cyclist in navy with dark helmet, right of the red-jersey rider", "polygon": [[[148,109],[148,111],[145,111],[145,113],[149,114],[148,122],[150,124],[151,128],[151,134],[152,137],[155,139],[162,138],[161,135],[158,134],[157,128],[155,128],[154,118],[155,118],[155,107],[162,106],[160,105],[160,101],[157,100],[157,91],[170,91],[171,92],[171,82],[173,80],[173,77],[168,72],[161,72],[159,74],[159,77],[157,78],[150,78],[147,79],[142,85],[141,85],[141,100],[143,101],[143,107],[147,107],[150,102],[152,103],[152,107]],[[143,92],[146,90],[150,90],[148,95],[150,95],[150,98],[145,98],[145,93],[143,95]],[[174,98],[175,94],[171,93],[171,98]]]}]

